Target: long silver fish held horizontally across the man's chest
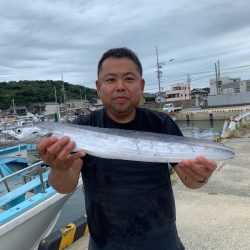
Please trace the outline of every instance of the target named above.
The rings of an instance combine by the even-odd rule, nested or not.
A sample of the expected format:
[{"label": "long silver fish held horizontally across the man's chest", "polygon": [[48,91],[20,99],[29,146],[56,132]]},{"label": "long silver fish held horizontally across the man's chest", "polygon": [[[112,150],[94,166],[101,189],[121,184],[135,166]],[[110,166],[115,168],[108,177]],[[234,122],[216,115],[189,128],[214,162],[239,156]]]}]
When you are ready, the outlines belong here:
[{"label": "long silver fish held horizontally across the man's chest", "polygon": [[69,136],[76,142],[74,151],[84,150],[107,159],[180,162],[200,155],[215,161],[234,157],[232,149],[222,143],[151,132],[44,122],[6,133],[19,143],[36,143],[41,137],[51,135],[58,138]]}]

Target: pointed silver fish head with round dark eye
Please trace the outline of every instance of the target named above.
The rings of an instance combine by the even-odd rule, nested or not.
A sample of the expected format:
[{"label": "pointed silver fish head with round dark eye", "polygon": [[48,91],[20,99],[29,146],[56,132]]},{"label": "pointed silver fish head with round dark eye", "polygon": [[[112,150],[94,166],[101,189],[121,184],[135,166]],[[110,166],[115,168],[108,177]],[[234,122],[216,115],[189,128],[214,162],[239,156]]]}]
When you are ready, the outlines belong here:
[{"label": "pointed silver fish head with round dark eye", "polygon": [[37,126],[17,127],[12,130],[6,130],[4,133],[8,139],[18,141],[19,143],[36,143],[43,137],[51,135],[49,130],[41,129]]}]

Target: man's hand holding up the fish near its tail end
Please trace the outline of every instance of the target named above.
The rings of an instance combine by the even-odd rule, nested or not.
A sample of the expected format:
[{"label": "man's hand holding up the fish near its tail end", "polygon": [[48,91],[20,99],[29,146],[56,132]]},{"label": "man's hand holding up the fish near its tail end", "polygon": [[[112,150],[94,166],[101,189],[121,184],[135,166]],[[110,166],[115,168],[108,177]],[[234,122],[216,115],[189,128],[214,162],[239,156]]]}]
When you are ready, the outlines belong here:
[{"label": "man's hand holding up the fish near its tail end", "polygon": [[188,188],[202,187],[216,168],[216,162],[203,156],[198,156],[194,161],[184,160],[174,167],[181,181]]}]

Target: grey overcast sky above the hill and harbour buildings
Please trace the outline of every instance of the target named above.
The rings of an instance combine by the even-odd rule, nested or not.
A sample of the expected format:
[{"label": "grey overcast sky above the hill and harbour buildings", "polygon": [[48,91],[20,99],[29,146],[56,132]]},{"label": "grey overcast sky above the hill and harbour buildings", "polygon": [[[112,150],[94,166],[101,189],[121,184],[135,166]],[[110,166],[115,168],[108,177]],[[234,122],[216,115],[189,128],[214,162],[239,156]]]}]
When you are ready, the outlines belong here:
[{"label": "grey overcast sky above the hill and harbour buildings", "polygon": [[[139,56],[145,92],[186,82],[209,87],[221,75],[250,79],[249,0],[1,0],[0,81],[58,80],[94,88],[112,47]],[[170,59],[174,59],[171,62]]]}]

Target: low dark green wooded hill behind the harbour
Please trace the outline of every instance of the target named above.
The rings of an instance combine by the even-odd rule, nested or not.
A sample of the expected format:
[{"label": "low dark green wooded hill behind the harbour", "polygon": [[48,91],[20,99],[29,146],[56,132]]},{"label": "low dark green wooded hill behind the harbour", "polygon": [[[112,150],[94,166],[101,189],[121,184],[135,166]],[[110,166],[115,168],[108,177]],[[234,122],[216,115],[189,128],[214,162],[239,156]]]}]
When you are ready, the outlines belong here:
[{"label": "low dark green wooded hill behind the harbour", "polygon": [[[81,85],[64,83],[66,99],[81,99],[81,97],[91,100],[96,97],[96,90],[85,88]],[[8,109],[14,98],[16,106],[27,106],[37,102],[54,102],[55,89],[57,101],[63,102],[62,81],[11,81],[0,82],[0,109]]]}]

